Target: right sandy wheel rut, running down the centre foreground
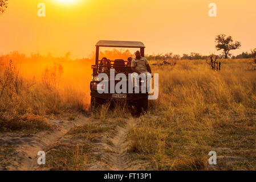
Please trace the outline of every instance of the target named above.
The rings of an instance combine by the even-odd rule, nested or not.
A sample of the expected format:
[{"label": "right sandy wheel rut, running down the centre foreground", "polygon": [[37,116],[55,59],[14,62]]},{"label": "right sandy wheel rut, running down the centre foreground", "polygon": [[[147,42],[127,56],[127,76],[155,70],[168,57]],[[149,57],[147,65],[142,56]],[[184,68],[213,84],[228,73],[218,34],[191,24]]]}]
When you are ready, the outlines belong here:
[{"label": "right sandy wheel rut, running down the centre foreground", "polygon": [[129,130],[136,125],[137,119],[126,119],[123,127],[118,126],[116,128],[116,133],[113,137],[104,137],[95,143],[94,155],[100,156],[100,160],[91,163],[88,170],[138,171],[149,169],[147,162],[135,160],[133,158],[135,154],[128,151],[127,135]]}]

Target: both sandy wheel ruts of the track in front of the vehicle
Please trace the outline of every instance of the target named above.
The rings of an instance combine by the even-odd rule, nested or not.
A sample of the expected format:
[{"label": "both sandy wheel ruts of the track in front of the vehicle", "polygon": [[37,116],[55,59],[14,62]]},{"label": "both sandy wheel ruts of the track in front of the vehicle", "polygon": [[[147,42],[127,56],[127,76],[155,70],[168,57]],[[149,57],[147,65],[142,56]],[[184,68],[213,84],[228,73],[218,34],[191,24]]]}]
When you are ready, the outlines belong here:
[{"label": "both sandy wheel ruts of the track in front of the vehicle", "polygon": [[[11,155],[10,164],[8,166],[1,166],[0,170],[42,170],[37,164],[38,151],[44,150],[52,144],[65,138],[65,134],[74,126],[85,124],[90,118],[80,117],[75,121],[64,121],[54,119],[49,121],[58,127],[58,130],[43,131],[36,135],[22,136],[13,133],[0,134],[0,144],[14,146],[13,155]],[[96,160],[88,164],[87,170],[89,171],[102,171],[102,170],[148,170],[148,163],[142,160],[135,160],[133,154],[129,152],[129,142],[127,135],[130,129],[136,125],[140,118],[125,119],[124,126],[117,126],[115,133],[109,135],[101,135],[97,142],[93,143],[94,150],[90,155],[97,156]],[[67,138],[70,140],[70,138]],[[81,142],[79,139],[72,138],[74,142]],[[77,141],[76,141],[77,140]],[[47,151],[46,151],[47,156]]]}]

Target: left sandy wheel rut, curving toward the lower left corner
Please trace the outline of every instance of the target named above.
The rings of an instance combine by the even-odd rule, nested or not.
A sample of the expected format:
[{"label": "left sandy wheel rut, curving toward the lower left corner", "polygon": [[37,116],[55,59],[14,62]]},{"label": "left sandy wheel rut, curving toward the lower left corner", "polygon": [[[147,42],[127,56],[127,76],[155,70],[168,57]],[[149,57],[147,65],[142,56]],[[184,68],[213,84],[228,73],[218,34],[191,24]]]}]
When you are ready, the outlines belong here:
[{"label": "left sandy wheel rut, curving toward the lower left corner", "polygon": [[10,165],[6,167],[0,166],[0,169],[25,171],[36,169],[38,166],[38,151],[55,143],[56,140],[62,138],[72,127],[82,125],[86,120],[86,117],[80,117],[72,122],[53,119],[49,123],[56,126],[54,131],[42,131],[35,135],[22,136],[13,133],[1,133],[0,144],[14,146],[15,151],[13,151],[11,159],[9,159],[9,161],[11,160]]}]

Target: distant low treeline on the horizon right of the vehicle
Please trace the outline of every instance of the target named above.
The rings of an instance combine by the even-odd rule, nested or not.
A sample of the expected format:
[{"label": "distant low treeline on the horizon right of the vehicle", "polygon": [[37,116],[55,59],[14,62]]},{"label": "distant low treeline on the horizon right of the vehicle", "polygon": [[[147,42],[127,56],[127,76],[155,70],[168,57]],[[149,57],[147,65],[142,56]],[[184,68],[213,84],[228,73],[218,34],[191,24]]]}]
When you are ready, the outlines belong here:
[{"label": "distant low treeline on the horizon right of the vehicle", "polygon": [[[183,54],[174,55],[172,52],[165,53],[165,54],[157,54],[157,55],[145,55],[148,60],[196,60],[196,59],[207,59],[208,56],[201,55],[200,53],[191,52],[190,55]],[[230,56],[232,59],[246,59],[246,58],[253,58],[256,57],[256,48],[251,50],[250,52],[242,52],[240,55],[237,56]],[[224,59],[225,55],[218,55],[219,59]]]}]

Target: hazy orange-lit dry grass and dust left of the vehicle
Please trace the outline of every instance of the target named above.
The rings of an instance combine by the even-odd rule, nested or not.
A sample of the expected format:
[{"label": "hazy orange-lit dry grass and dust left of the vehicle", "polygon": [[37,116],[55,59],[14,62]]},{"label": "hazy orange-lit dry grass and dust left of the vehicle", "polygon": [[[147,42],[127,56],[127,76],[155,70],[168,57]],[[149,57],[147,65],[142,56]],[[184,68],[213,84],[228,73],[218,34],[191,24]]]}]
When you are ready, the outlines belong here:
[{"label": "hazy orange-lit dry grass and dust left of the vehicle", "polygon": [[47,115],[87,110],[89,64],[67,57],[0,56],[0,131],[49,130],[47,122],[43,126]]}]

